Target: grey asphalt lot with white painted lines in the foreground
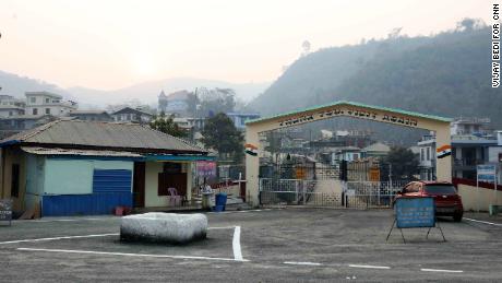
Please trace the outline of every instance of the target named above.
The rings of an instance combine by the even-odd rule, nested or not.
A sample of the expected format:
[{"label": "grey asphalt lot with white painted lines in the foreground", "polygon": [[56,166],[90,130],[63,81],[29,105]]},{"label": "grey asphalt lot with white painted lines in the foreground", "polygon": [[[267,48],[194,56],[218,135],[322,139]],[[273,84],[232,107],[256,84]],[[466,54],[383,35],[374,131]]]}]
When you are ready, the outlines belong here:
[{"label": "grey asphalt lot with white painted lines in the foreground", "polygon": [[[391,210],[208,213],[208,238],[186,246],[119,241],[113,216],[0,224],[0,281],[497,281],[502,224],[439,222],[441,234],[392,225]],[[473,221],[473,220],[479,220]],[[491,224],[490,224],[491,223]],[[495,224],[495,225],[493,225]]]}]

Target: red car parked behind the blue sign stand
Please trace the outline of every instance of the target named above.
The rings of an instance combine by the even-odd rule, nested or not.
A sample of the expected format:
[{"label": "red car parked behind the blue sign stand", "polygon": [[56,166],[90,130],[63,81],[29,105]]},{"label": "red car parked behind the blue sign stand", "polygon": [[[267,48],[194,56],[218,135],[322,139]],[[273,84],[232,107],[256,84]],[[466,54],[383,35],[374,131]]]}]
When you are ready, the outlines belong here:
[{"label": "red car parked behind the blue sign stand", "polygon": [[435,200],[435,215],[453,216],[455,222],[461,222],[464,215],[462,198],[455,186],[446,181],[411,181],[397,192],[402,197],[432,197]]}]

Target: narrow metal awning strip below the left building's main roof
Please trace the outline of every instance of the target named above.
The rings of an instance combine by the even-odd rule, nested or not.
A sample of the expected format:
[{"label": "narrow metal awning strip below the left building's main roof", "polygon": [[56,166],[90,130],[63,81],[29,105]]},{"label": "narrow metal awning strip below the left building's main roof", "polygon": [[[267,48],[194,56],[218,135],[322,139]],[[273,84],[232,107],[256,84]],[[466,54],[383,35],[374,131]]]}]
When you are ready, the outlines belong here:
[{"label": "narrow metal awning strip below the left building's main roof", "polygon": [[74,150],[74,149],[47,149],[21,146],[21,150],[37,155],[81,155],[81,156],[106,156],[106,157],[143,157],[143,155],[133,152],[123,151],[93,151],[93,150]]}]

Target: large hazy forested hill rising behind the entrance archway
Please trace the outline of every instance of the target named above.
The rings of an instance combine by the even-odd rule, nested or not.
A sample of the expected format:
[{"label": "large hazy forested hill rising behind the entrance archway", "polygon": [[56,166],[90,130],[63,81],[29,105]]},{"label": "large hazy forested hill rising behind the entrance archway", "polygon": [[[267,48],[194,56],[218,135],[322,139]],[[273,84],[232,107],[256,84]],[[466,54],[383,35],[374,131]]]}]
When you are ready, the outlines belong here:
[{"label": "large hazy forested hill rising behind the entrance archway", "polygon": [[491,87],[490,55],[491,30],[479,25],[326,48],[298,59],[250,107],[266,116],[346,99],[489,117],[502,128],[502,91]]}]

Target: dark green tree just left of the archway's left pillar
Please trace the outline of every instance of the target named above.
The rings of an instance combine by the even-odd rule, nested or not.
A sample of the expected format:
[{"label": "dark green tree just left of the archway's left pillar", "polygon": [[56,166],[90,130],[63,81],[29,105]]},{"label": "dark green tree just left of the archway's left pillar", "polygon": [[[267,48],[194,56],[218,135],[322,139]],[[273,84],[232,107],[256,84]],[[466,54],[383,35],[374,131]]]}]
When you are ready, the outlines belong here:
[{"label": "dark green tree just left of the archway's left pillar", "polygon": [[242,133],[224,113],[207,119],[202,135],[204,145],[218,151],[222,158],[231,157],[235,162],[242,161],[244,150]]}]

